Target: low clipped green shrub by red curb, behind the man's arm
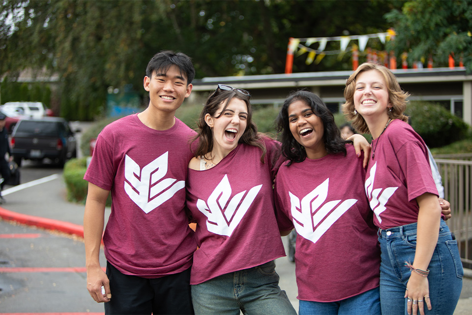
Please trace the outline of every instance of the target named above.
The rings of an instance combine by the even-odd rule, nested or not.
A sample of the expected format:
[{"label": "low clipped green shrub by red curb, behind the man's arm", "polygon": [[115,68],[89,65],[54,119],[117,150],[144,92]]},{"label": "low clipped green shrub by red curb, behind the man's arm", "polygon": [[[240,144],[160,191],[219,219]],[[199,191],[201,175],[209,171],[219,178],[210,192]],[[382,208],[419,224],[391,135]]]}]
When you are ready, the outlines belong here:
[{"label": "low clipped green shrub by red curb, behind the man's arm", "polygon": [[[72,158],[64,165],[64,181],[67,188],[67,201],[84,203],[87,199],[89,182],[84,180],[87,171],[87,158]],[[108,196],[107,206],[112,204]]]}]

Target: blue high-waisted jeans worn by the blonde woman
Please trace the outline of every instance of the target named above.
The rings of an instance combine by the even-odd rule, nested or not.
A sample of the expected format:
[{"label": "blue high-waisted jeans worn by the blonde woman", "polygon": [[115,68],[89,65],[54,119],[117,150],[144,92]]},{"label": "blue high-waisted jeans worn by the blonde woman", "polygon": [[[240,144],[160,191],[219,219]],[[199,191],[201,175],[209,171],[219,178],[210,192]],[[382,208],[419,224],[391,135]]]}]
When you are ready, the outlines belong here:
[{"label": "blue high-waisted jeans worn by the blonde woman", "polygon": [[[379,230],[382,251],[380,265],[380,302],[382,314],[408,314],[404,298],[410,268],[416,248],[416,223]],[[428,275],[431,311],[426,303],[425,314],[452,314],[462,290],[464,270],[457,248],[447,224],[441,220],[438,244],[429,263]],[[419,314],[419,311],[418,311]]]}]

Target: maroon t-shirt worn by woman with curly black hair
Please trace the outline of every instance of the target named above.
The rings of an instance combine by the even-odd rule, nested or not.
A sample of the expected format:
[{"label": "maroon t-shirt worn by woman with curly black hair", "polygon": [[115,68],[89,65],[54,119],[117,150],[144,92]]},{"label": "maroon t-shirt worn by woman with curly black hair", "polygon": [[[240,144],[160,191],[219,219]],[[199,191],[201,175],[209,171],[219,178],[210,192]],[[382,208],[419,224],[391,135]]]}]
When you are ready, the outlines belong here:
[{"label": "maroon t-shirt worn by woman with curly black hair", "polygon": [[281,230],[295,226],[299,300],[334,302],[379,286],[380,249],[362,183],[362,157],[284,163],[275,181]]}]

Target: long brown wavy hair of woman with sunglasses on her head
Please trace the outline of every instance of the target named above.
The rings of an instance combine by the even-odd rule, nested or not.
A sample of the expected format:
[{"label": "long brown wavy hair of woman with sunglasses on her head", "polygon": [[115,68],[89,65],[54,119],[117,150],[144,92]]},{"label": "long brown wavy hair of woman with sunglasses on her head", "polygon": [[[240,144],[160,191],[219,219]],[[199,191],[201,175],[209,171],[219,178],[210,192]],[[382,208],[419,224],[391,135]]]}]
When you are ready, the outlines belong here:
[{"label": "long brown wavy hair of woman with sunglasses on her head", "polygon": [[[210,114],[210,116],[215,118],[220,117],[223,111],[228,107],[230,101],[233,98],[237,98],[244,101],[247,106],[246,130],[244,130],[241,138],[239,138],[238,143],[245,143],[260,148],[262,150],[261,161],[264,162],[267,152],[266,146],[261,140],[264,134],[257,131],[257,126],[252,120],[252,106],[249,97],[249,95],[244,95],[236,90],[217,90],[216,93],[212,93],[208,97],[197,121],[197,135],[191,140],[192,143],[198,140],[198,146],[194,152],[196,158],[199,156],[205,156],[213,150],[213,130],[205,122],[205,116]],[[223,109],[218,115],[218,109],[222,103],[224,103]]]}]

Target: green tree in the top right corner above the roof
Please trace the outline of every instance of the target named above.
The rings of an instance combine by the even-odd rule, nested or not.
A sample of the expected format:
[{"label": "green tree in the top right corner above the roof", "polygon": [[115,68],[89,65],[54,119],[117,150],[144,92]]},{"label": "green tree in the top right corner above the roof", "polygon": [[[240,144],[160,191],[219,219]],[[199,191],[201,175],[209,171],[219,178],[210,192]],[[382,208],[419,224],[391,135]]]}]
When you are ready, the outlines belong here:
[{"label": "green tree in the top right corner above the roof", "polygon": [[397,35],[389,43],[396,55],[408,52],[409,63],[433,57],[434,66],[447,66],[448,56],[454,54],[458,65],[472,72],[472,1],[471,0],[414,0],[404,3],[401,12],[385,14],[394,24]]}]

